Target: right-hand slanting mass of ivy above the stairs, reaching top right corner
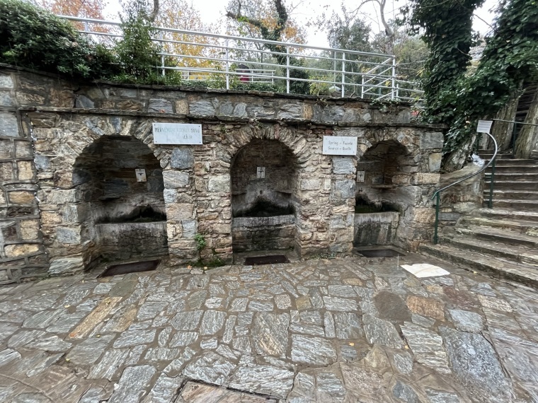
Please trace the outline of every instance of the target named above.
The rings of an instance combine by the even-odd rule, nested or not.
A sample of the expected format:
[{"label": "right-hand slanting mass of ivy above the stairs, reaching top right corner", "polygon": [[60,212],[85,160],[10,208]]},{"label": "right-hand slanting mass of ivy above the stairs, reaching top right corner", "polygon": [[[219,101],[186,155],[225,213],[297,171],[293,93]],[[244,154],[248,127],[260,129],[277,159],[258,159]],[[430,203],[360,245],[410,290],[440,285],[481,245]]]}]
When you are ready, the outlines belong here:
[{"label": "right-hand slanting mass of ivy above the stairs, reaching top right corner", "polygon": [[456,117],[446,136],[446,151],[474,134],[478,119],[493,117],[522,82],[538,78],[537,1],[511,0],[500,7],[503,12],[476,71],[459,78],[457,92],[440,98],[454,107]]}]

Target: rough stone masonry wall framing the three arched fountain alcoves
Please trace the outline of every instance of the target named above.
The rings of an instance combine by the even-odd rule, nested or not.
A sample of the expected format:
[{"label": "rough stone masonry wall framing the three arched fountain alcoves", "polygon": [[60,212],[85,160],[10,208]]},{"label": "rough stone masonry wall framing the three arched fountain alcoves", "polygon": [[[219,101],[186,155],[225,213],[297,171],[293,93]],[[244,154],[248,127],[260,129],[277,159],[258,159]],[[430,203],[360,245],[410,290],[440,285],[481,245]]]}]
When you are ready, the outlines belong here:
[{"label": "rough stone masonry wall framing the three arched fountain alcoves", "polygon": [[[366,100],[75,83],[2,65],[0,284],[92,267],[106,252],[96,230],[103,216],[130,216],[141,206],[166,221],[116,232],[131,234],[133,245],[118,258],[167,253],[188,262],[198,257],[200,233],[202,257],[230,262],[231,171],[253,141],[277,141],[293,159],[286,192],[294,217],[286,233],[303,257],[351,250],[357,163],[378,144],[394,146],[405,163],[388,164],[396,172],[387,171],[386,186],[374,190],[400,211],[394,243],[416,250],[432,233],[442,128],[410,119],[406,106]],[[156,145],[153,122],[201,124],[203,144]],[[357,137],[356,155],[324,155],[324,136]],[[130,153],[107,148],[123,140]],[[147,182],[136,182],[135,169],[145,170]]]}]

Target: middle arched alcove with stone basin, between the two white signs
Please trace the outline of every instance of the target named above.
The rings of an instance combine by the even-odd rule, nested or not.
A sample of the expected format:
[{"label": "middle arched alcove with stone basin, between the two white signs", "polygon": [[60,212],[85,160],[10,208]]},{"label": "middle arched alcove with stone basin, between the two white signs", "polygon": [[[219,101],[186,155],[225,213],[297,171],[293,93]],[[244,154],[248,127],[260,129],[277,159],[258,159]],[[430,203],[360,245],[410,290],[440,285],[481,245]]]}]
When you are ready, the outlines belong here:
[{"label": "middle arched alcove with stone basin, between the two white signs", "polygon": [[230,176],[234,252],[294,247],[297,158],[290,148],[252,139],[232,158]]}]

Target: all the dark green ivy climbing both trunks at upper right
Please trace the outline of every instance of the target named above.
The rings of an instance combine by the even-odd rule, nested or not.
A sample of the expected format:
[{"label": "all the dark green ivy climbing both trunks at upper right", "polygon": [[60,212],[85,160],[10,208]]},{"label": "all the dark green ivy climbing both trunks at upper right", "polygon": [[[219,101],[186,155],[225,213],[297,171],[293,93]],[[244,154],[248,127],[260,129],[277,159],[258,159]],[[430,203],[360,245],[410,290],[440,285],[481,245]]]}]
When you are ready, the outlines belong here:
[{"label": "all the dark green ivy climbing both trunks at upper right", "polygon": [[430,47],[425,120],[444,123],[443,168],[461,168],[474,145],[476,120],[493,117],[522,81],[538,76],[537,0],[504,0],[476,71],[467,73],[472,11],[482,0],[413,0],[408,21]]}]

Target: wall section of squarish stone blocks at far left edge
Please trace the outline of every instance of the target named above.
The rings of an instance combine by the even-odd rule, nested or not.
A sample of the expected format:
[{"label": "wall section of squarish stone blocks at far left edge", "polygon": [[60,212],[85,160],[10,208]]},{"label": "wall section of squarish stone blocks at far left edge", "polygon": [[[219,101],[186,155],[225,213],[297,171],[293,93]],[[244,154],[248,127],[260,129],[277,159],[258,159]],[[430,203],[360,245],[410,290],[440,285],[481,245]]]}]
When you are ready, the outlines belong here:
[{"label": "wall section of squarish stone blocks at far left edge", "polygon": [[28,99],[38,99],[28,82],[0,71],[0,284],[46,274],[49,267],[35,199],[31,129],[18,111]]}]

